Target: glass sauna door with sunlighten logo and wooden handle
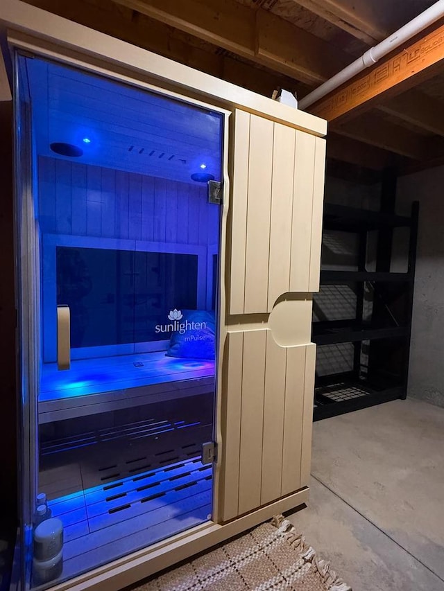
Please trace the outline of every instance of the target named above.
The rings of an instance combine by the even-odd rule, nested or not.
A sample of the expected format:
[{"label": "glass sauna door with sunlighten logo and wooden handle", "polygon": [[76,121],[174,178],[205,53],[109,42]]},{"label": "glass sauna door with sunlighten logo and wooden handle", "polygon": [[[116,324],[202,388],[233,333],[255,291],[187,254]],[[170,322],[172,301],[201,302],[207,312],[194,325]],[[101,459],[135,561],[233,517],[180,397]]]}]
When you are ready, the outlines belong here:
[{"label": "glass sauna door with sunlighten logo and wooden handle", "polygon": [[51,574],[30,552],[35,587],[211,518],[223,116],[38,58],[17,76],[37,286],[28,526],[64,530]]}]

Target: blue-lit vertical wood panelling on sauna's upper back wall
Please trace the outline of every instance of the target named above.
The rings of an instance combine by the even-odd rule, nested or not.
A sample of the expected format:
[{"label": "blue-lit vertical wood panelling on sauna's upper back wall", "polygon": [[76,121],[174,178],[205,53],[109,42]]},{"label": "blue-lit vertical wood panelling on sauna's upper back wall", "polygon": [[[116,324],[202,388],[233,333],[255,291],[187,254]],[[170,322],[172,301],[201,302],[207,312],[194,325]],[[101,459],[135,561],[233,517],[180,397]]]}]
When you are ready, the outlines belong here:
[{"label": "blue-lit vertical wood panelling on sauna's upper back wall", "polygon": [[67,236],[212,245],[219,208],[205,185],[39,157],[40,231]]}]

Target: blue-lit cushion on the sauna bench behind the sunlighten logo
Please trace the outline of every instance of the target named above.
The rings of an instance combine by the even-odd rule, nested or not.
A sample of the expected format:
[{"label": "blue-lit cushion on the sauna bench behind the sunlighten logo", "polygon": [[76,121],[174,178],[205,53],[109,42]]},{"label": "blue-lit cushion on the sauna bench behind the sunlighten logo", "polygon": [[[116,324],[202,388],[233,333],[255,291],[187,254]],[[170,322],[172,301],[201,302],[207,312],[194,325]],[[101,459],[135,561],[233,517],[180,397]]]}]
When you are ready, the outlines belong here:
[{"label": "blue-lit cushion on the sauna bench behind the sunlighten logo", "polygon": [[168,357],[185,359],[214,359],[216,323],[214,312],[207,310],[182,310],[182,318],[171,334]]}]

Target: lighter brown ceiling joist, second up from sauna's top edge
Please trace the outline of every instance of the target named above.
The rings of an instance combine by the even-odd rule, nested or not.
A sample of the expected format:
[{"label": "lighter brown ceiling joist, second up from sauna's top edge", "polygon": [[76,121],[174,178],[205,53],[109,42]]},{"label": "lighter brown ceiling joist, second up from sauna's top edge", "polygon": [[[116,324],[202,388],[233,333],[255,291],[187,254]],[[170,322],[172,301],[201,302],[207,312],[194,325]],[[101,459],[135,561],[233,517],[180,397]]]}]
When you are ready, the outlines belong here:
[{"label": "lighter brown ceiling joist, second up from sauna's top edge", "polygon": [[351,61],[306,30],[235,0],[113,1],[309,85],[327,80]]}]

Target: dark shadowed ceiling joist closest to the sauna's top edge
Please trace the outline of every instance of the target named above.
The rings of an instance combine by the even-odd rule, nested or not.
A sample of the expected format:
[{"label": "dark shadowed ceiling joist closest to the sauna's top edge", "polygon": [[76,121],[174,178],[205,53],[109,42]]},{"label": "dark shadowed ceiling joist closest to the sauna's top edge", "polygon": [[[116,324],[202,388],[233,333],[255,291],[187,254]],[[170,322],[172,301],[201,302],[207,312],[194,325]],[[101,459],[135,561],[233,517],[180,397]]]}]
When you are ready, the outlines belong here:
[{"label": "dark shadowed ceiling joist closest to the sauna's top edge", "polygon": [[215,46],[192,39],[189,35],[145,15],[135,15],[133,10],[117,6],[113,2],[76,0],[65,3],[59,0],[26,0],[26,3],[264,96],[271,96],[276,87],[296,91],[301,88],[301,85],[291,78],[265,68],[258,70],[254,64],[217,52]]}]

